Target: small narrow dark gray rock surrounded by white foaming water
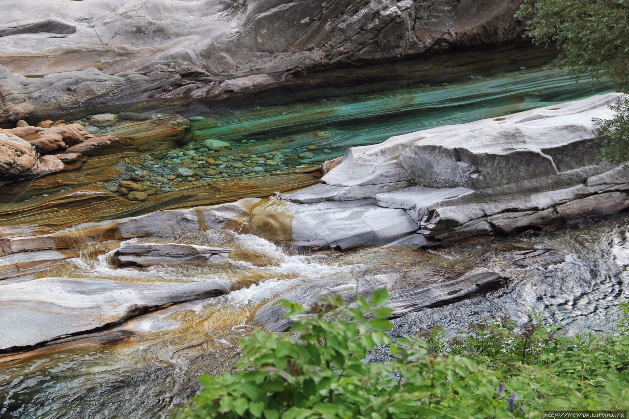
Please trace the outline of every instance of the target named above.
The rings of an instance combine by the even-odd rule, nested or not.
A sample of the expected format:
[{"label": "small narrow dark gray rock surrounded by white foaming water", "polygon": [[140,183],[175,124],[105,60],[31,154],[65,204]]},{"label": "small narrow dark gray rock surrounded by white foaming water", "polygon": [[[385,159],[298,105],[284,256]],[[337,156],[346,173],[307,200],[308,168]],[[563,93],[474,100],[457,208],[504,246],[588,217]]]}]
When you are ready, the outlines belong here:
[{"label": "small narrow dark gray rock surrounded by white foaming water", "polygon": [[116,250],[111,263],[116,266],[213,264],[225,262],[230,249],[180,243],[138,243]]}]

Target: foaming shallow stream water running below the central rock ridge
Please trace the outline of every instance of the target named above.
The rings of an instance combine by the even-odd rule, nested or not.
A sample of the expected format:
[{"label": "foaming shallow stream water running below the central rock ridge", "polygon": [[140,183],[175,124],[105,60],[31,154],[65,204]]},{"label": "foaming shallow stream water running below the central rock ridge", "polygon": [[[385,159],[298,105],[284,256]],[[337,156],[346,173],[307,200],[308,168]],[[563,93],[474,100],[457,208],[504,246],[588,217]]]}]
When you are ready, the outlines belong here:
[{"label": "foaming shallow stream water running below the central rock ridge", "polygon": [[[204,232],[163,240],[228,245],[235,249],[230,262],[140,272],[111,269],[103,257],[69,260],[48,273],[58,269],[67,276],[120,281],[219,277],[229,278],[238,289],[0,364],[0,413],[28,418],[167,416],[198,390],[199,375],[223,371],[237,359],[238,338],[253,330],[252,315],[260,304],[298,284],[374,271],[402,272],[411,281],[439,280],[478,266],[511,275],[505,288],[397,319],[394,334],[416,333],[433,324],[454,332],[487,316],[523,321],[531,310],[570,333],[610,330],[618,320],[616,304],[629,296],[628,221],[623,214],[516,238],[477,238],[448,249],[405,246],[326,254],[296,254],[250,235]],[[123,338],[107,339],[119,335]]]}]

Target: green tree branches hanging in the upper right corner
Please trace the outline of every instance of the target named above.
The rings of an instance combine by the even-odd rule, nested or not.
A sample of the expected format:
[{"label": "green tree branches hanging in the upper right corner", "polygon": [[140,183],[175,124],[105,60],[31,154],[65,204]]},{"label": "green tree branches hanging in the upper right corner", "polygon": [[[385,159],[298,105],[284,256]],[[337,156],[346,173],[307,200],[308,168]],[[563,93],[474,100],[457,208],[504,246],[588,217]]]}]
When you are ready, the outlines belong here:
[{"label": "green tree branches hanging in the upper right corner", "polygon": [[[629,0],[526,0],[516,16],[538,45],[554,43],[554,64],[578,77],[606,77],[629,92]],[[616,118],[596,121],[603,157],[629,160],[629,99],[612,106]]]}]

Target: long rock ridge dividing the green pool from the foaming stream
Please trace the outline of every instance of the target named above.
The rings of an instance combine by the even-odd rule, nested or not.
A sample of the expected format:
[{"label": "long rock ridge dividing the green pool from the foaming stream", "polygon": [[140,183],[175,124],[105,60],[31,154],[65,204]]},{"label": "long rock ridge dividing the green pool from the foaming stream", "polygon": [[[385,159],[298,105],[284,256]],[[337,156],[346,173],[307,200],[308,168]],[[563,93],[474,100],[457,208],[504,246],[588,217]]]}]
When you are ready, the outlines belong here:
[{"label": "long rock ridge dividing the green pool from the foaming stream", "polygon": [[593,96],[351,148],[321,184],[281,198],[9,235],[0,240],[0,272],[29,274],[91,242],[196,230],[317,248],[430,246],[615,213],[629,206],[629,169],[599,161],[591,130],[616,99]]}]

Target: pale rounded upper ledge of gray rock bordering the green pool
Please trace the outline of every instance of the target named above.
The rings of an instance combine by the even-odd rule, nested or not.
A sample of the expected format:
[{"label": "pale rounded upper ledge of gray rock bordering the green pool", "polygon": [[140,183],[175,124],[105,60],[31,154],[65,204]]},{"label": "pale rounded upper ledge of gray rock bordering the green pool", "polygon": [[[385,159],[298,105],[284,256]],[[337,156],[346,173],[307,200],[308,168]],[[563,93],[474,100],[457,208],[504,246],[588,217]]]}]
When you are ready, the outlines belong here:
[{"label": "pale rounded upper ledge of gray rock bordering the green pool", "polygon": [[321,178],[337,186],[396,182],[484,189],[597,164],[593,118],[610,118],[620,94],[445,125],[354,147]]}]

